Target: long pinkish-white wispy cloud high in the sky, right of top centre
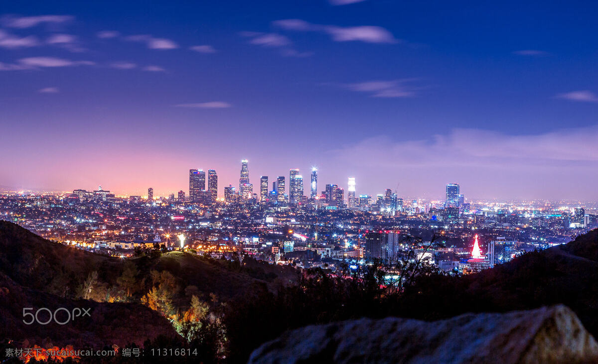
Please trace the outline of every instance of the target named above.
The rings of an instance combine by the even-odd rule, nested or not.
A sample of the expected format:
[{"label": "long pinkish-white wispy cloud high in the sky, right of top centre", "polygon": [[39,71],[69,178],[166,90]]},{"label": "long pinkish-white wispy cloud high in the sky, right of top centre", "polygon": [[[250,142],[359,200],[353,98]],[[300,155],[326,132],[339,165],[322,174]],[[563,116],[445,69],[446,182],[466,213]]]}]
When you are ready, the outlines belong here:
[{"label": "long pinkish-white wispy cloud high in the sky, right of top centre", "polygon": [[359,41],[389,44],[401,42],[401,40],[396,39],[389,30],[379,26],[367,25],[341,27],[335,25],[318,25],[301,19],[276,20],[272,22],[272,24],[285,30],[326,33],[336,42]]}]

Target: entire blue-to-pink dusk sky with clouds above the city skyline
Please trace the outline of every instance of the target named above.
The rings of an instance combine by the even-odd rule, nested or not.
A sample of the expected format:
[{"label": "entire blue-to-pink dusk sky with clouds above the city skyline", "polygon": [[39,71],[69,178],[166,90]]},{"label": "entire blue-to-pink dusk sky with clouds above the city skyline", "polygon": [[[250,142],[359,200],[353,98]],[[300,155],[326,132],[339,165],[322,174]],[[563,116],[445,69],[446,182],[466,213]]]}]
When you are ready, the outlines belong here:
[{"label": "entire blue-to-pink dusk sky with clouds above the city skyline", "polygon": [[598,198],[596,2],[154,3],[2,2],[0,189]]}]

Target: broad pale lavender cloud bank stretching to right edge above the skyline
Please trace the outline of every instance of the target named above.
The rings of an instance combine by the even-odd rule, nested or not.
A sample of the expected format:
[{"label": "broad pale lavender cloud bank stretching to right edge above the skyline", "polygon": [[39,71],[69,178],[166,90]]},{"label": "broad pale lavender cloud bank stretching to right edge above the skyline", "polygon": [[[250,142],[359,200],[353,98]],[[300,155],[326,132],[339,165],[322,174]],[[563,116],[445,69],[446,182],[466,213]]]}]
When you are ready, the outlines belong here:
[{"label": "broad pale lavender cloud bank stretching to right edge above the skyline", "polygon": [[[551,131],[536,135],[508,135],[478,129],[454,129],[430,139],[393,142],[388,137],[365,139],[342,149],[345,158],[376,161],[388,167],[503,166],[531,167],[535,162],[598,161],[598,149],[590,148],[598,138],[598,126]],[[501,148],[487,148],[500,145]],[[369,151],[369,152],[368,152]],[[512,164],[514,163],[514,164]]]}]

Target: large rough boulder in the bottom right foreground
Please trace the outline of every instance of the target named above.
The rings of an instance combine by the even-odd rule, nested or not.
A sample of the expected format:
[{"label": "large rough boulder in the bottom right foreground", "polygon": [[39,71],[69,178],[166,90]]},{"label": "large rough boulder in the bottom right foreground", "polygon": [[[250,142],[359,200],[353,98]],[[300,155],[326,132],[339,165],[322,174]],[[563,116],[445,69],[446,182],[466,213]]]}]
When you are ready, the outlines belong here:
[{"label": "large rough boulder in the bottom right foreground", "polygon": [[463,314],[424,322],[387,317],[285,332],[250,363],[575,363],[598,359],[598,344],[564,305]]}]

